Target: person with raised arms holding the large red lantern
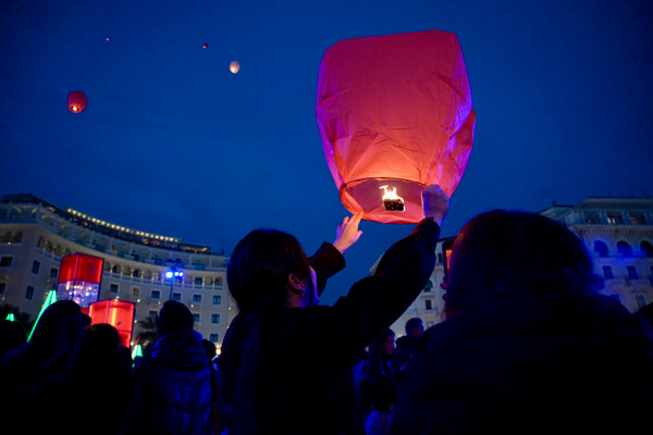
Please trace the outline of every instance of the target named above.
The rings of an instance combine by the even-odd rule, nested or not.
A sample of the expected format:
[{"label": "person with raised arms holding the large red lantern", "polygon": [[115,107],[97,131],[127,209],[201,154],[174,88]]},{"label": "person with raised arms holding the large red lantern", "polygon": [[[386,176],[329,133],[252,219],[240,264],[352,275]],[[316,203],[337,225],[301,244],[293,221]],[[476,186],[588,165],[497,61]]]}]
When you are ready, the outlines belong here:
[{"label": "person with raised arms holding the large red lantern", "polygon": [[256,229],[237,244],[227,282],[241,312],[220,358],[221,425],[230,435],[361,433],[354,365],[434,266],[448,197],[433,185],[423,189],[422,203],[424,219],[412,233],[332,307],[318,306],[319,295],[360,237],[360,215],[345,217],[334,244],[311,259],[279,231]]}]

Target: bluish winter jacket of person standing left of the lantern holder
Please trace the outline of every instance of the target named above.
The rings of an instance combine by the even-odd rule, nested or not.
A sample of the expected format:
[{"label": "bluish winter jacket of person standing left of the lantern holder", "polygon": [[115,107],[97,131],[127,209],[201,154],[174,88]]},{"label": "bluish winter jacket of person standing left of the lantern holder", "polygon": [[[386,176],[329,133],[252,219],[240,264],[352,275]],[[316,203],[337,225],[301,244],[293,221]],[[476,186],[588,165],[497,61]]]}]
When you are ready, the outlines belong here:
[{"label": "bluish winter jacket of person standing left of the lantern holder", "polygon": [[201,335],[183,331],[161,337],[133,373],[127,434],[212,434],[212,384]]}]

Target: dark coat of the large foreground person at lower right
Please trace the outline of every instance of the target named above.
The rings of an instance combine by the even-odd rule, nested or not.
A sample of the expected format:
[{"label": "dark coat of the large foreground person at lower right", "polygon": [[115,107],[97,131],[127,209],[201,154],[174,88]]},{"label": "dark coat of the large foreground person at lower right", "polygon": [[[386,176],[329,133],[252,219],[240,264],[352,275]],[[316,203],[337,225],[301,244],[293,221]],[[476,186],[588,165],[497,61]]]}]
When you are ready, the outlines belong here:
[{"label": "dark coat of the large foreground person at lower right", "polygon": [[479,299],[424,333],[403,373],[393,434],[614,434],[649,424],[651,340],[618,301],[575,289]]}]

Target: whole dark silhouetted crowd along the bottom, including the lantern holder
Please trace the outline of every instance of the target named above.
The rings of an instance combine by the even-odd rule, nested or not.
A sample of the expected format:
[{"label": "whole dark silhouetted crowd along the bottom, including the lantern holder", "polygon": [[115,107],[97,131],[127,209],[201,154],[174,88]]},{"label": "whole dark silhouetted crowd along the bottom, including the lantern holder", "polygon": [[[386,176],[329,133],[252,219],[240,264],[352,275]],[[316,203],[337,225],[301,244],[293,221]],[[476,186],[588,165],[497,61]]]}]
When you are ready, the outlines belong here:
[{"label": "whole dark silhouetted crowd along the bottom, including the lantern holder", "polygon": [[218,359],[175,301],[163,304],[160,338],[137,361],[115,328],[90,325],[72,301],[50,306],[29,341],[3,323],[2,432],[650,430],[651,323],[601,295],[582,243],[538,214],[495,210],[468,222],[443,283],[446,320],[427,331],[409,321],[395,348],[389,327],[427,284],[448,209],[438,186],[422,200],[424,219],[332,307],[319,297],[360,237],[359,215],[312,257],[286,233],[245,236],[227,269],[239,314]]}]

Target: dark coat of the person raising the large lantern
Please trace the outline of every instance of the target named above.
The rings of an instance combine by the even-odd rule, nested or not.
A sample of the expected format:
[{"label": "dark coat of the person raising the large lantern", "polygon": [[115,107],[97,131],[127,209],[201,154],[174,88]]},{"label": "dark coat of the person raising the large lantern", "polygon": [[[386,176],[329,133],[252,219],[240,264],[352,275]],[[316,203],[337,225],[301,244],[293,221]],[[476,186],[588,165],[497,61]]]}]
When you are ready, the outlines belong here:
[{"label": "dark coat of the person raising the large lantern", "polygon": [[[270,308],[239,314],[222,345],[230,435],[357,434],[354,365],[408,308],[434,265],[440,227],[423,220],[394,244],[375,273],[333,307]],[[335,264],[334,268],[324,264]],[[313,257],[318,282],[344,265],[333,246]],[[318,287],[321,291],[321,288]]]}]

